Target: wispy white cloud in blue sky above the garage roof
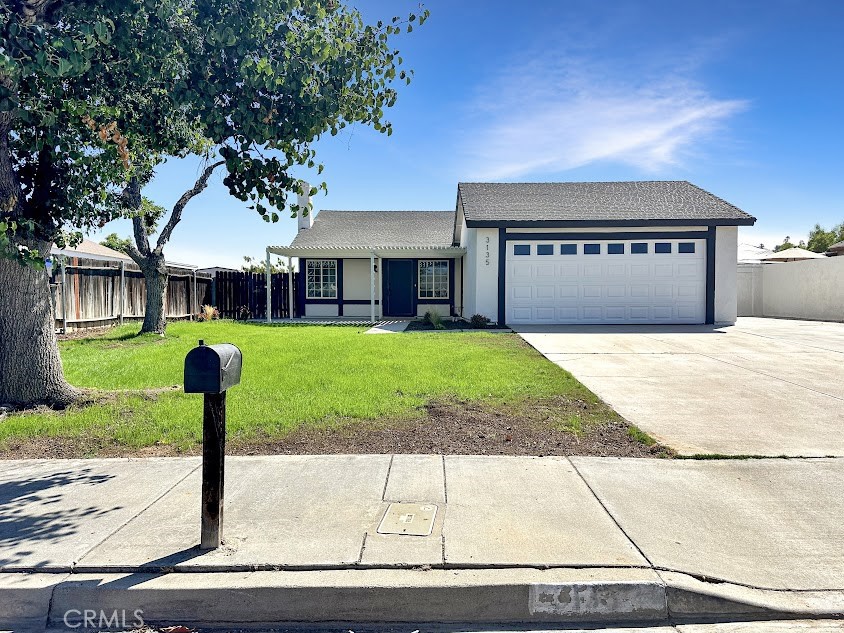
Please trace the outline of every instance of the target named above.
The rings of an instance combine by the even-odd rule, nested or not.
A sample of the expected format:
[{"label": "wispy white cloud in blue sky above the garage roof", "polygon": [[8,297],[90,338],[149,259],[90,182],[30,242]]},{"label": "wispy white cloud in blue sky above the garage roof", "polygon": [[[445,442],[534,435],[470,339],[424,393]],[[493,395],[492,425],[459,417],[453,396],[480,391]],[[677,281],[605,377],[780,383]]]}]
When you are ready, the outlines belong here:
[{"label": "wispy white cloud in blue sky above the garage roof", "polygon": [[693,76],[694,56],[668,65],[538,55],[511,66],[473,103],[469,169],[507,179],[598,161],[646,172],[681,163],[748,105],[712,96]]}]

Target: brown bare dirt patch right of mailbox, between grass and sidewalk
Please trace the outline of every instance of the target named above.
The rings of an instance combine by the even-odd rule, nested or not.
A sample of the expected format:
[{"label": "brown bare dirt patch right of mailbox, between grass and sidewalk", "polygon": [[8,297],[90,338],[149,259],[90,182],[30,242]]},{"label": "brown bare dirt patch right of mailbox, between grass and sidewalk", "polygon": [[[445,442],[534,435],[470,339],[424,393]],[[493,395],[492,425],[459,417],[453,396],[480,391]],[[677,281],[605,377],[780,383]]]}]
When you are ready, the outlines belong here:
[{"label": "brown bare dirt patch right of mailbox, between grass and sidewalk", "polygon": [[641,432],[631,435],[630,428],[604,404],[566,398],[497,407],[484,403],[434,402],[425,407],[423,416],[414,420],[300,428],[282,439],[267,437],[236,442],[231,452],[239,455],[672,455],[670,449]]}]

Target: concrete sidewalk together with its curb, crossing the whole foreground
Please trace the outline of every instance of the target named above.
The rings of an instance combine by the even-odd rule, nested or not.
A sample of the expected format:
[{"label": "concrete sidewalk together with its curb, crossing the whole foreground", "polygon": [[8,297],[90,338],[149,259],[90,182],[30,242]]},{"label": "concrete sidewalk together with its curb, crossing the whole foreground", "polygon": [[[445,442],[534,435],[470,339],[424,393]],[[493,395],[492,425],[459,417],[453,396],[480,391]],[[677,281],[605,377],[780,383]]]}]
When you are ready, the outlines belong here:
[{"label": "concrete sidewalk together with its curb, crossing the whole foreground", "polygon": [[[844,613],[844,460],[229,458],[213,552],[199,466],[0,463],[0,629]],[[437,506],[431,535],[379,534],[391,502]]]}]

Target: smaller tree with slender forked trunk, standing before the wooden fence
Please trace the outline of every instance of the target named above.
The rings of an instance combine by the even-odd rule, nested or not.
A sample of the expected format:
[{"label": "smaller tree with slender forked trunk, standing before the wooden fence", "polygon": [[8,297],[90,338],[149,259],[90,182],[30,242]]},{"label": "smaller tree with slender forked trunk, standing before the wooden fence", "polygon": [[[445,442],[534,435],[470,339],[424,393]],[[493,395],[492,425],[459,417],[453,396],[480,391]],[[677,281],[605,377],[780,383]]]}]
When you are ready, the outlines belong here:
[{"label": "smaller tree with slender forked trunk, standing before the wooden fence", "polygon": [[[134,215],[135,244],[128,253],[146,280],[142,332],[165,331],[164,247],[185,206],[206,188],[214,170],[225,166],[229,192],[250,201],[265,220],[277,221],[276,209],[284,208],[287,195],[302,193],[291,168],[322,171],[311,147],[320,135],[336,134],[350,123],[392,133],[383,120],[384,109],[396,100],[390,84],[409,82],[410,75],[399,68],[401,58],[388,38],[411,31],[417,19],[427,17],[425,12],[368,26],[356,10],[334,0],[196,6],[208,51],[191,58],[174,91],[190,105],[198,137],[193,153],[201,154],[205,165],[173,207],[155,245],[146,230],[148,214],[138,207]],[[135,179],[127,187],[130,205],[141,200],[140,186],[141,179]]]}]

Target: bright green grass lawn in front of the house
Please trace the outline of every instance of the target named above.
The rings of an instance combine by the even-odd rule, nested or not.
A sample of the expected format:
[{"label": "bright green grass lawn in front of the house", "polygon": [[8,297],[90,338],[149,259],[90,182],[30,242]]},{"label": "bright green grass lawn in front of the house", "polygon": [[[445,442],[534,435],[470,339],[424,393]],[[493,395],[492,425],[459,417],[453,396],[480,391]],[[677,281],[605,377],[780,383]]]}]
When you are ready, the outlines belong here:
[{"label": "bright green grass lawn in front of the house", "polygon": [[300,425],[412,418],[439,399],[503,403],[563,395],[597,402],[514,334],[373,336],[350,327],[215,321],[172,323],[161,338],[136,336],[136,328],[60,343],[68,380],[108,393],[64,412],[10,416],[0,425],[0,448],[43,436],[84,436],[134,448],[195,447],[202,396],[182,393],[181,385],[185,354],[198,339],[234,343],[243,351],[242,382],[228,395],[232,440],[277,438]]}]

